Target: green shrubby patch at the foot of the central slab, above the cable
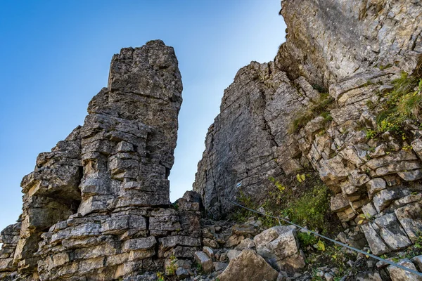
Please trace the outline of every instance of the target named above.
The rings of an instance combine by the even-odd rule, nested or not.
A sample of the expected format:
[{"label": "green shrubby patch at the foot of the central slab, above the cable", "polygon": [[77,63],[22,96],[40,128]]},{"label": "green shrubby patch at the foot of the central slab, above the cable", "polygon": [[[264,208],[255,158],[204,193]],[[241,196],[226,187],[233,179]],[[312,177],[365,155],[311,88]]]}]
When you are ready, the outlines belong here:
[{"label": "green shrubby patch at the foot of the central slab, above the cable", "polygon": [[[300,179],[300,180],[299,180]],[[250,196],[240,192],[239,204],[257,210],[263,207],[265,214],[260,216],[262,226],[271,228],[279,225],[278,218],[307,226],[309,230],[319,230],[329,233],[336,228],[338,220],[330,211],[330,191],[319,178],[319,174],[297,174],[276,180],[269,177],[268,195],[261,202],[255,202]],[[247,221],[250,216],[257,216],[255,212],[238,208],[231,218],[238,222]],[[283,223],[283,221],[281,221]],[[286,224],[286,223],[283,223]]]}]

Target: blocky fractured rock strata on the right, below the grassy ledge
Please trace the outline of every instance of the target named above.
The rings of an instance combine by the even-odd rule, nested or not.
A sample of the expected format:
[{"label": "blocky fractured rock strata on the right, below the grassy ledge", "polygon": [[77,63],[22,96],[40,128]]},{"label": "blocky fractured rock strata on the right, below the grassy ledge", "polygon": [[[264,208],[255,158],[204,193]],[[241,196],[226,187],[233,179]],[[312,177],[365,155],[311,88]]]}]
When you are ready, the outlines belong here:
[{"label": "blocky fractured rock strata on the right, below the grassy ledge", "polygon": [[[331,110],[333,121],[327,124],[317,117],[295,136],[302,155],[335,192],[331,211],[345,228],[363,222],[363,233],[376,255],[408,247],[422,230],[422,131],[409,124],[405,136],[386,132],[370,138],[367,133],[377,128],[381,91],[392,88],[389,84],[397,77],[399,70],[391,67],[331,85],[338,105]],[[343,242],[354,244],[349,238],[340,235]]]}]

